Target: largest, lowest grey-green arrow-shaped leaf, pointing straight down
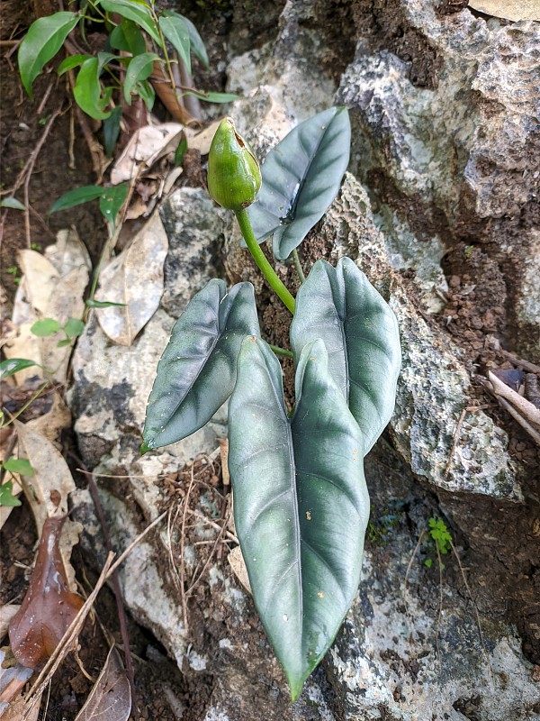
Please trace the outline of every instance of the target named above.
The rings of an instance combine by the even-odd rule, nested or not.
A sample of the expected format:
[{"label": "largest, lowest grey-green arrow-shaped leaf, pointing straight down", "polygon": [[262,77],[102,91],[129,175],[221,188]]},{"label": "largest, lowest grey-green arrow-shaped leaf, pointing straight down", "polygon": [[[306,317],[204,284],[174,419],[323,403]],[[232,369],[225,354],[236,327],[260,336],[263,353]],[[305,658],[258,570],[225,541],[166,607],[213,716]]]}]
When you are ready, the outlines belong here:
[{"label": "largest, lowest grey-green arrow-shaped leaf, pointing straight down", "polygon": [[364,439],[322,341],[302,353],[296,399],[289,419],[279,360],[244,341],[229,406],[235,524],[293,700],[356,597],[369,516]]}]

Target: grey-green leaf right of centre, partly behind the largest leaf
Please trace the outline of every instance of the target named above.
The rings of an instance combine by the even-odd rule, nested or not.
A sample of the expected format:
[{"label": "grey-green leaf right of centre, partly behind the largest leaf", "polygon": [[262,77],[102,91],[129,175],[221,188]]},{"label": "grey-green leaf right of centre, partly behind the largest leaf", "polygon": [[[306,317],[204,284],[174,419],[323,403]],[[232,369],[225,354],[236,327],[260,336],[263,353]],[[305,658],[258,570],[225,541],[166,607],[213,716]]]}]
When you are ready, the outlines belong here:
[{"label": "grey-green leaf right of centre, partly behind the largest leaf", "polygon": [[317,260],[296,296],[291,347],[296,358],[322,338],[330,372],[365,437],[367,453],[392,416],[401,367],[395,315],[349,258]]}]

